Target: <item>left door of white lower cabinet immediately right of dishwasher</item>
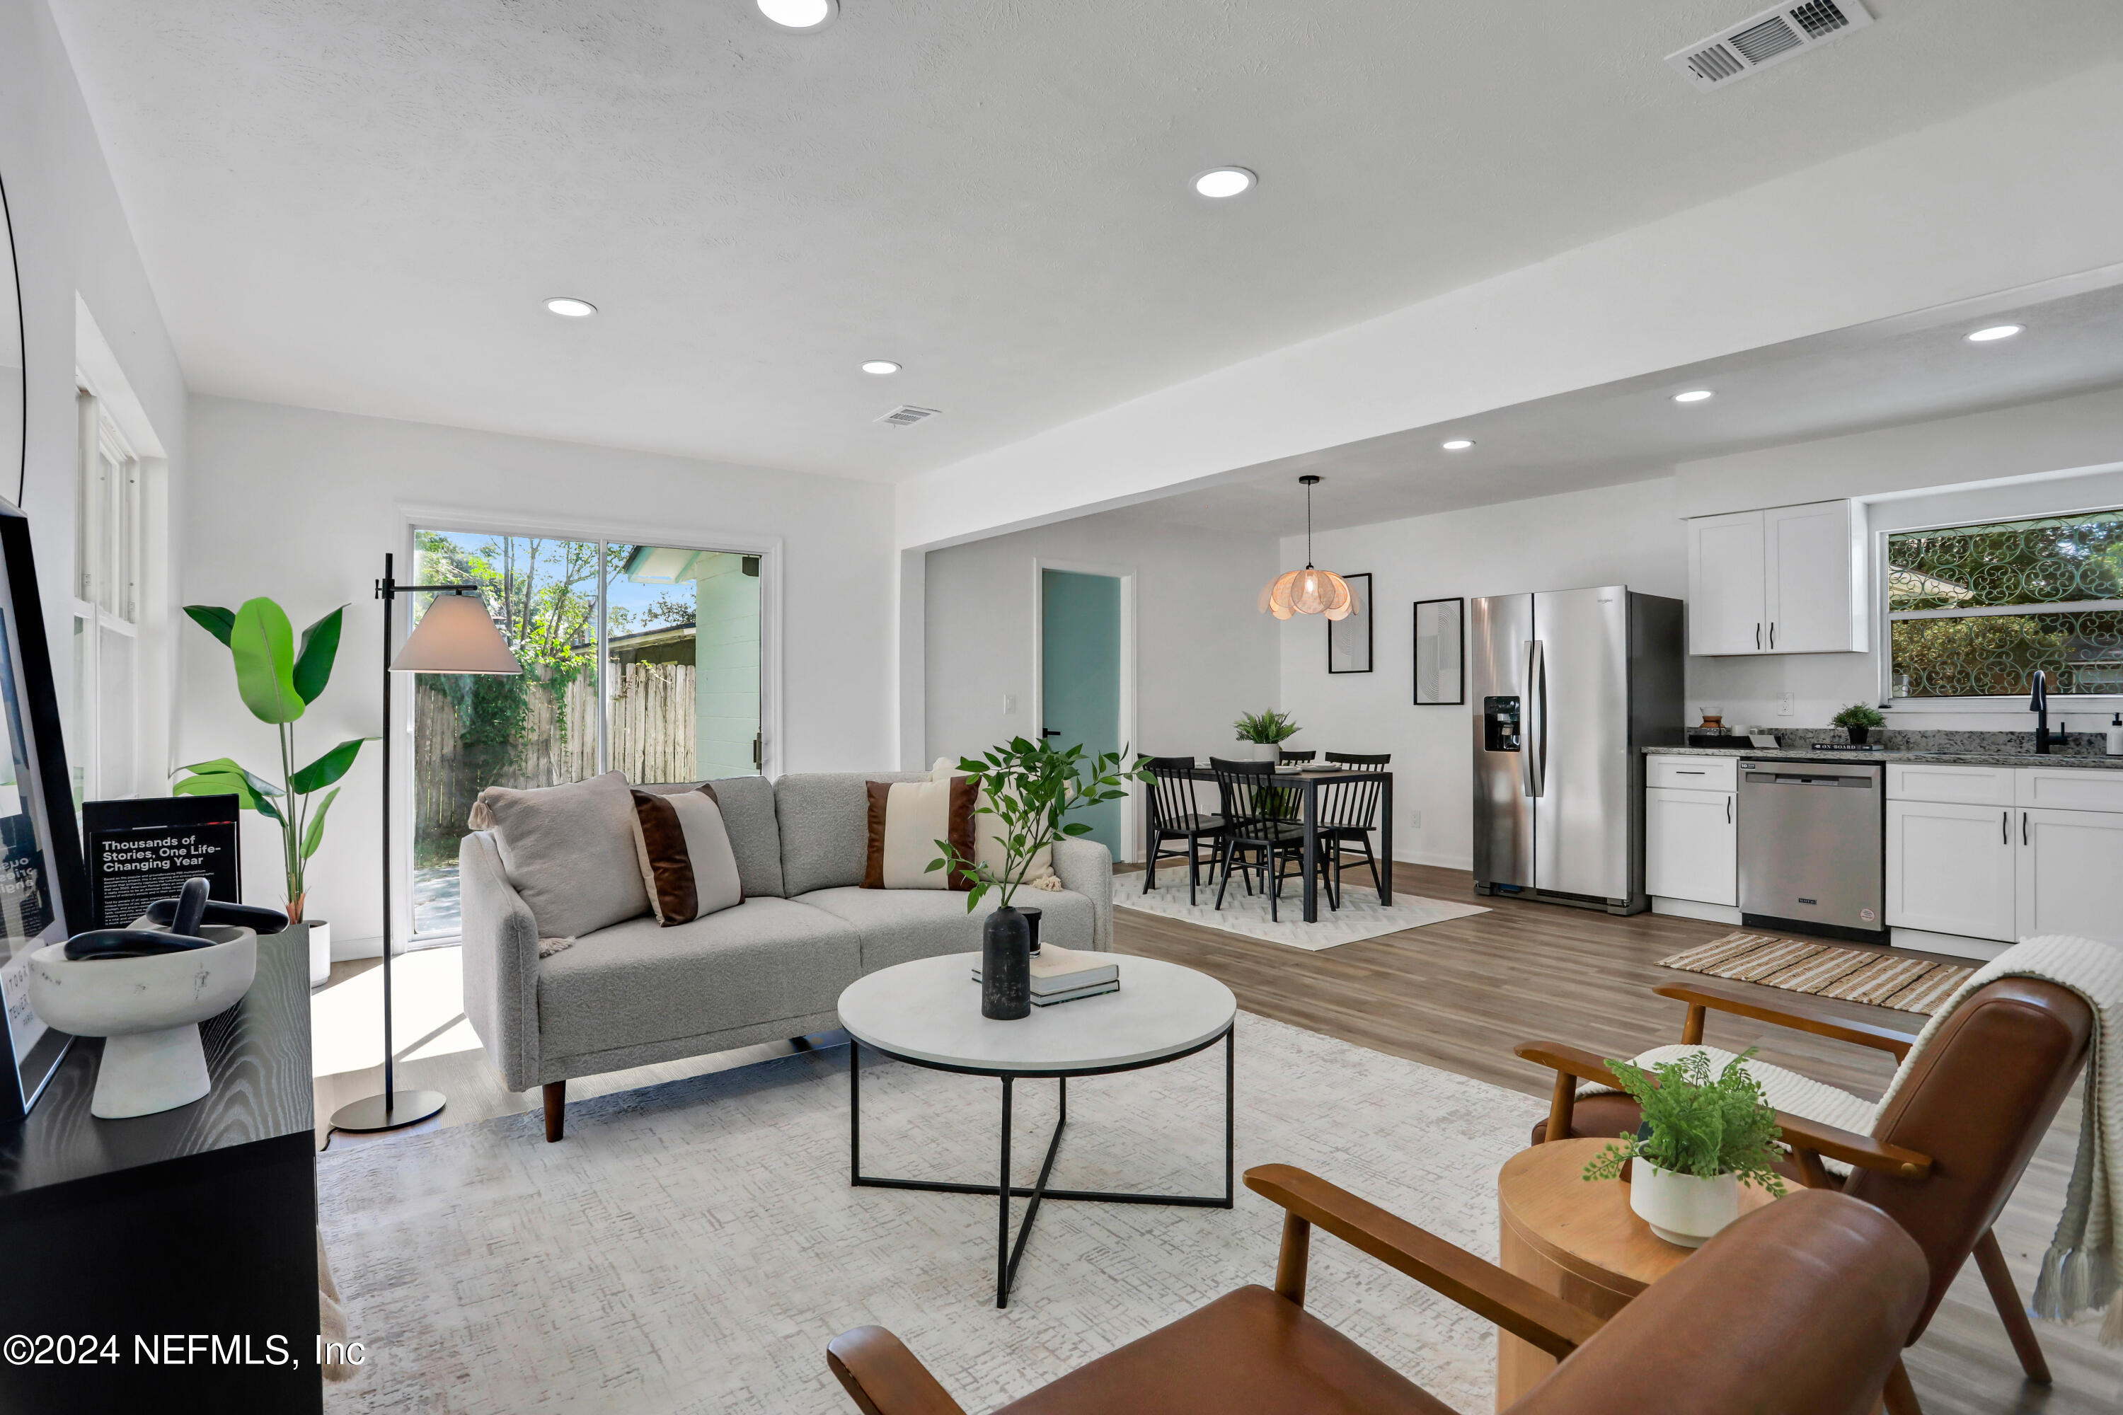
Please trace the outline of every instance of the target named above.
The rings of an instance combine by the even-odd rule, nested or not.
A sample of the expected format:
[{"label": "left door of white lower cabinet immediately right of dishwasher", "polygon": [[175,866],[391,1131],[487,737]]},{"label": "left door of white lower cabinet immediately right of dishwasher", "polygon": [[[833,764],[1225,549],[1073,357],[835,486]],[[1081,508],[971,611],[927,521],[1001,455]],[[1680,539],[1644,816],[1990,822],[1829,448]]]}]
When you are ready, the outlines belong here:
[{"label": "left door of white lower cabinet immediately right of dishwasher", "polygon": [[1887,802],[1887,925],[2015,940],[2008,806]]}]

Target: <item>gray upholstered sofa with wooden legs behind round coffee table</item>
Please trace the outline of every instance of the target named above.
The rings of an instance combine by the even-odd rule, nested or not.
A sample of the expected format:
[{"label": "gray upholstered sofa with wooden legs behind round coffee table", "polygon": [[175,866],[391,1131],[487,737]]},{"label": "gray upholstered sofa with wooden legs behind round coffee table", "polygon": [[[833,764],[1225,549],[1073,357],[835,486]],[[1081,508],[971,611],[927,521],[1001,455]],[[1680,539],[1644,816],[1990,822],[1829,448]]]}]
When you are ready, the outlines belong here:
[{"label": "gray upholstered sofa with wooden legs behind round coffee table", "polygon": [[[868,781],[924,774],[798,774],[715,783],[745,902],[675,927],[652,914],[577,938],[548,959],[490,832],[459,846],[465,1016],[510,1090],[546,1088],[546,1139],[560,1139],[567,1082],[839,1027],[856,978],[938,953],[972,953],[994,895],[966,912],[943,889],[862,889]],[[686,791],[686,785],[645,787]],[[1057,840],[1064,889],[1021,891],[1040,938],[1112,946],[1112,859]],[[977,991],[966,984],[968,1006]]]}]

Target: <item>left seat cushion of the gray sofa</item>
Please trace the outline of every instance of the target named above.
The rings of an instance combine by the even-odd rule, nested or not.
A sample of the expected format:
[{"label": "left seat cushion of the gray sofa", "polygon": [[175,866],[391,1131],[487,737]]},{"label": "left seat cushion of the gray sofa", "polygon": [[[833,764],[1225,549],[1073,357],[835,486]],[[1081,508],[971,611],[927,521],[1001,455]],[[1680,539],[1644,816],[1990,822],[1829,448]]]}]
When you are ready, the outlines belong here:
[{"label": "left seat cushion of the gray sofa", "polygon": [[539,1050],[552,1061],[832,1012],[858,976],[853,925],[790,899],[669,929],[628,919],[539,961]]}]

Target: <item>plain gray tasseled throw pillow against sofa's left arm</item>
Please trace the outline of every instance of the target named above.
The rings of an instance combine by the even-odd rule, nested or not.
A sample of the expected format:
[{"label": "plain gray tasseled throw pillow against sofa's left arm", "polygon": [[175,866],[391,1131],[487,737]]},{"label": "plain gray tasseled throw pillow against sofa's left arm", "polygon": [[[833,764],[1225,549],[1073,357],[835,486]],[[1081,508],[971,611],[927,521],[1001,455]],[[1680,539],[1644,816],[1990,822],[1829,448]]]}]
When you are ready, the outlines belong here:
[{"label": "plain gray tasseled throw pillow against sofa's left arm", "polygon": [[486,787],[471,827],[493,829],[501,870],[539,938],[582,938],[650,912],[635,855],[635,793],[605,772],[565,787]]}]

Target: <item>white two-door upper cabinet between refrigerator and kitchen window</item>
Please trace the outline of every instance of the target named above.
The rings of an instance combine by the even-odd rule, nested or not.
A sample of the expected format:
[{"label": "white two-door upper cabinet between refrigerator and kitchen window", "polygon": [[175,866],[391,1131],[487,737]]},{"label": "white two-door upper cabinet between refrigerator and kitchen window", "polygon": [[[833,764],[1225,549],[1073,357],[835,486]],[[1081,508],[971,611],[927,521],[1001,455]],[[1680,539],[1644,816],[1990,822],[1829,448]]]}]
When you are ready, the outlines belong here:
[{"label": "white two-door upper cabinet between refrigerator and kitchen window", "polygon": [[1864,651],[1864,560],[1849,501],[1692,518],[1688,651]]}]

